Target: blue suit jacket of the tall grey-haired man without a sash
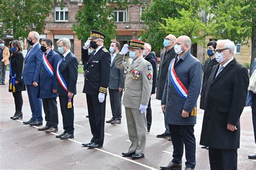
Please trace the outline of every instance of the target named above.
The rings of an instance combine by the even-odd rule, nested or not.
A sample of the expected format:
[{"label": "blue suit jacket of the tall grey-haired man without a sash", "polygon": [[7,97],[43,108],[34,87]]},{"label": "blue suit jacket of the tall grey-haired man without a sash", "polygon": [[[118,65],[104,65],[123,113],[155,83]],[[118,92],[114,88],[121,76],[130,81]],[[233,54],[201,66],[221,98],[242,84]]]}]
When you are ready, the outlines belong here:
[{"label": "blue suit jacket of the tall grey-haired man without a sash", "polygon": [[39,70],[42,57],[43,51],[41,51],[41,45],[39,43],[35,45],[32,50],[28,50],[23,69],[24,84],[32,85],[33,81],[39,82]]}]

